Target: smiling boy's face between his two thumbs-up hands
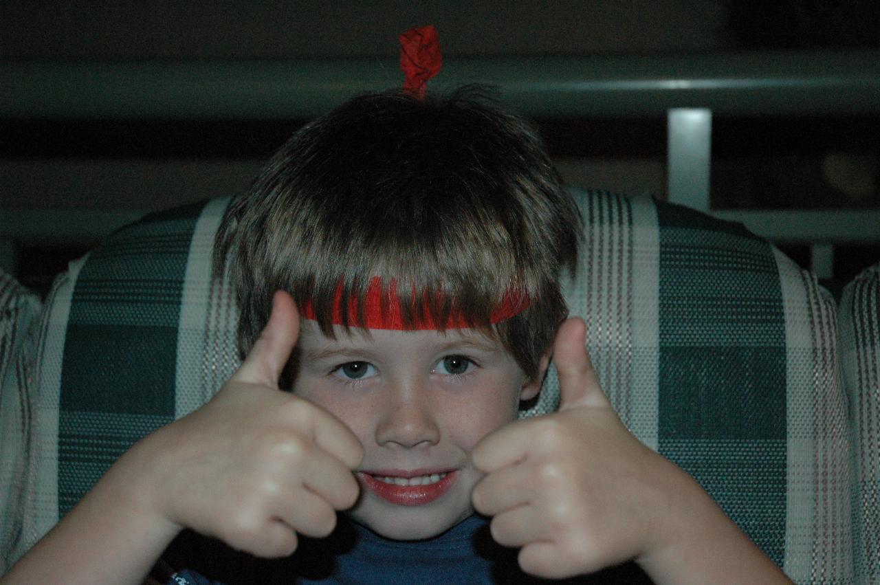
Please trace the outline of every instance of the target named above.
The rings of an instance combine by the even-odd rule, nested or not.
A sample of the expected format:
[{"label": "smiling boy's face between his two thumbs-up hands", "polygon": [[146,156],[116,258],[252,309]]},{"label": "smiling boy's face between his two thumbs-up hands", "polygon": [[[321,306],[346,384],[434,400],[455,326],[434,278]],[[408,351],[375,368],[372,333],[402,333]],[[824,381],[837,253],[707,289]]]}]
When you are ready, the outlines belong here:
[{"label": "smiling boy's face between his two thumbs-up hands", "polygon": [[436,536],[470,516],[480,479],[471,450],[515,420],[539,383],[500,341],[473,330],[336,333],[303,320],[293,390],[363,444],[361,497],[349,515],[400,540]]}]

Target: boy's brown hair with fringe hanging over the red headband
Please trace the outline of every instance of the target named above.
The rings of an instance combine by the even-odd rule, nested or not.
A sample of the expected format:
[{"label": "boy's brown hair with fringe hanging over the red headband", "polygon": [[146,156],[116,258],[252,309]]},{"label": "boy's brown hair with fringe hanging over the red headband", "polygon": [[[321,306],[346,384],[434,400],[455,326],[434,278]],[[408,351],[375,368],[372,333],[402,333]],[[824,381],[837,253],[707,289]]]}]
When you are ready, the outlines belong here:
[{"label": "boy's brown hair with fringe hanging over the red headband", "polygon": [[[363,315],[378,277],[407,325],[463,316],[535,377],[568,312],[560,280],[576,269],[581,225],[523,119],[473,88],[423,100],[389,91],[351,99],[275,153],[227,210],[215,269],[236,290],[242,355],[275,290],[311,304],[333,336],[339,296]],[[493,325],[510,296],[528,307]],[[359,323],[343,314],[347,330]]]}]

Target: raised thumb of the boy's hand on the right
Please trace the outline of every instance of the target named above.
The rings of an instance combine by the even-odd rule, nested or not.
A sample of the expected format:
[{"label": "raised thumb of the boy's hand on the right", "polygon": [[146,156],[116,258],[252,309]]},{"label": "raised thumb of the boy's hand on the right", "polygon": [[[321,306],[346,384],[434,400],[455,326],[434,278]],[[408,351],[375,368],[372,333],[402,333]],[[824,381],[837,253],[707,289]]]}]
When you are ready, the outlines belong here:
[{"label": "raised thumb of the boy's hand on the right", "polygon": [[566,319],[556,333],[553,360],[559,376],[560,410],[574,406],[611,408],[587,354],[586,333],[587,325],[581,318]]}]

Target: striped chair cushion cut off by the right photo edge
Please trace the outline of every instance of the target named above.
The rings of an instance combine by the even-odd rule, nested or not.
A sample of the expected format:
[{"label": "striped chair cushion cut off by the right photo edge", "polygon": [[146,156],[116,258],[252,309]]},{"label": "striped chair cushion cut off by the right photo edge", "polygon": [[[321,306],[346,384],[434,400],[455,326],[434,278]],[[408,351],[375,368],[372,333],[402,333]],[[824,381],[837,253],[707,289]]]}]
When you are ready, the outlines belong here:
[{"label": "striped chair cushion cut off by the right photo edge", "polygon": [[856,569],[880,583],[880,264],[843,291],[840,362],[853,421]]}]

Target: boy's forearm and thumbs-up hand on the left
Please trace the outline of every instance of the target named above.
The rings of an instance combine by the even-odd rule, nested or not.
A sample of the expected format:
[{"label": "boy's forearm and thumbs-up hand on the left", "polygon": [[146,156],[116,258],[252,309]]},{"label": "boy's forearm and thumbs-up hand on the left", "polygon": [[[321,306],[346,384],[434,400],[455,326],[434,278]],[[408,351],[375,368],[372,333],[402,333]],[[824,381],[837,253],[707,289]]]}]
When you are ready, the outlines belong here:
[{"label": "boy's forearm and thumbs-up hand on the left", "polygon": [[263,557],[324,537],[354,504],[363,447],[330,413],[278,390],[298,314],[272,316],[214,399],[136,443],[4,576],[13,583],[140,583],[183,528]]}]

